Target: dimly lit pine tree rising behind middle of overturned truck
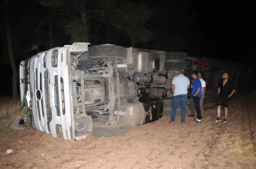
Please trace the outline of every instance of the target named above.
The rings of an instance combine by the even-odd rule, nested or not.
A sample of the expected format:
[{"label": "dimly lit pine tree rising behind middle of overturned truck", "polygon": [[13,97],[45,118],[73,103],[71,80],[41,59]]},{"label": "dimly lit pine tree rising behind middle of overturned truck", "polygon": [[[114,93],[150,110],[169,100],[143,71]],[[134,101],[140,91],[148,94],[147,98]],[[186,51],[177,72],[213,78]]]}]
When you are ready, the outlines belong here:
[{"label": "dimly lit pine tree rising behind middle of overturned truck", "polygon": [[[97,38],[101,27],[118,28],[129,36],[132,46],[136,42],[149,42],[151,32],[144,23],[151,18],[152,11],[121,0],[38,0],[43,6],[58,8],[61,25],[70,35],[71,42],[86,42]],[[97,42],[97,39],[95,40]]]}]

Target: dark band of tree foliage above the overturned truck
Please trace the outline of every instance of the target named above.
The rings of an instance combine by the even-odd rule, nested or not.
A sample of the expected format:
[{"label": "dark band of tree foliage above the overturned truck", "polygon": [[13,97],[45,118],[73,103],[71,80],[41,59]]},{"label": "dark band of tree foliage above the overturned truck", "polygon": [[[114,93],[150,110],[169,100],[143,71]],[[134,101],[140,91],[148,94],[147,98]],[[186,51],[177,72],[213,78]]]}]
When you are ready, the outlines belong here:
[{"label": "dark band of tree foliage above the overturned truck", "polygon": [[[137,45],[147,44],[149,49],[184,52],[195,50],[199,43],[203,43],[199,40],[201,35],[189,30],[196,20],[195,13],[188,13],[191,1],[145,2],[28,0],[21,3],[9,0],[10,19],[14,21],[10,25],[14,57],[17,60],[26,59],[28,45],[38,43],[45,50],[50,47],[50,41],[54,46],[75,41],[119,45],[120,41],[133,39]],[[49,23],[52,23],[52,33]],[[0,29],[0,62],[9,64],[4,27]],[[122,44],[128,45],[130,42]]]}]

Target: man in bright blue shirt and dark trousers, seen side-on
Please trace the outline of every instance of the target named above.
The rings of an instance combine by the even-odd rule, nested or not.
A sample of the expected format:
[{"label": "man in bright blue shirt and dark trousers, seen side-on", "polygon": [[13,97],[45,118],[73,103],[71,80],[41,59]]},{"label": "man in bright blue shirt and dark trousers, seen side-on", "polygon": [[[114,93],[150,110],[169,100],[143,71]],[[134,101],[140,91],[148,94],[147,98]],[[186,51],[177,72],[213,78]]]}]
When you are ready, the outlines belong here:
[{"label": "man in bright blue shirt and dark trousers, seen side-on", "polygon": [[202,97],[202,84],[201,81],[198,78],[198,73],[196,71],[192,72],[192,78],[194,79],[191,95],[193,96],[193,103],[195,105],[197,118],[196,123],[202,122],[202,116],[201,116],[201,110],[200,110],[200,100]]}]

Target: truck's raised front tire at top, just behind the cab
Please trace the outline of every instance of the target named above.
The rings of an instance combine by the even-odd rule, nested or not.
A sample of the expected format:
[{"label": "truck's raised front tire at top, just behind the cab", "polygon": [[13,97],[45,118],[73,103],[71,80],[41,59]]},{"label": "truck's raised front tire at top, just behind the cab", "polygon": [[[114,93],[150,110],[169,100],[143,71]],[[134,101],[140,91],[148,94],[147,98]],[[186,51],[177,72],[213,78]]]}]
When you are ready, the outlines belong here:
[{"label": "truck's raised front tire at top, just behind the cab", "polygon": [[126,59],[127,49],[111,44],[95,45],[88,47],[88,58],[102,60],[102,59]]}]

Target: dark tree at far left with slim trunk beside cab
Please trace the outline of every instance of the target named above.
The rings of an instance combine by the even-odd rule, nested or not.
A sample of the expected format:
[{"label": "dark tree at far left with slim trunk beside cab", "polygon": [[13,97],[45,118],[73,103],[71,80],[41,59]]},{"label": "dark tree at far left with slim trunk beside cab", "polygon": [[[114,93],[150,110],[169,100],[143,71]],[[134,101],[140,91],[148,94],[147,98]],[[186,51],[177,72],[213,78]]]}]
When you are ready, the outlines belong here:
[{"label": "dark tree at far left with slim trunk beside cab", "polygon": [[[18,98],[17,63],[28,58],[26,48],[33,43],[50,44],[46,35],[38,31],[38,21],[45,18],[41,6],[33,1],[20,2],[16,0],[1,1],[3,27],[1,33],[0,64],[10,65],[12,70],[12,95]],[[29,8],[29,10],[27,10]],[[15,11],[11,12],[11,11]],[[45,12],[45,11],[44,11]],[[43,17],[44,16],[44,17]],[[48,25],[48,24],[47,24]],[[45,26],[45,25],[44,25]],[[41,29],[42,30],[42,29]],[[46,47],[48,49],[48,47]]]}]

